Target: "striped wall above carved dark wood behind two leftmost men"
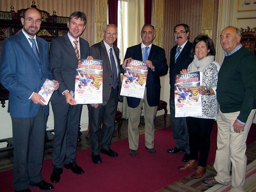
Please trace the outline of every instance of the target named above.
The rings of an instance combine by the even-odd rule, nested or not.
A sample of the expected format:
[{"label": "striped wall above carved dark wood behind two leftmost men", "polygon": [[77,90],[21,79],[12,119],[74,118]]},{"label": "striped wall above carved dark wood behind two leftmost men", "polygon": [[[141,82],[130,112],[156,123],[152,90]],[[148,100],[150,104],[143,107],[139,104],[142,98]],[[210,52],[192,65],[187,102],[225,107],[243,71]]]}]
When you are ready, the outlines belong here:
[{"label": "striped wall above carved dark wood behind two leftmost men", "polygon": [[[13,6],[17,12],[31,5],[32,0],[1,0],[0,10],[9,12]],[[94,0],[35,0],[35,5],[38,9],[49,12],[50,15],[56,11],[56,15],[63,17],[69,17],[76,11],[84,12],[87,16],[87,26],[81,37],[86,39],[90,46],[94,44]]]}]

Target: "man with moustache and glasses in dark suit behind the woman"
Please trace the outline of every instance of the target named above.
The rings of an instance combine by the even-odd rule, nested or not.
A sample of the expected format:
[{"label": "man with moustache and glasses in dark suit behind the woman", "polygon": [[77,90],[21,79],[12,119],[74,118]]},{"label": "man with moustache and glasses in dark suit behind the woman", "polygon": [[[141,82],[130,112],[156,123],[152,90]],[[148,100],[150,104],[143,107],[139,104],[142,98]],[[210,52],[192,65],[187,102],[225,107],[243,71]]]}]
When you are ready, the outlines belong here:
[{"label": "man with moustache and glasses in dark suit behind the woman", "polygon": [[170,56],[170,115],[172,134],[176,145],[174,148],[167,150],[168,153],[186,152],[182,161],[189,160],[189,134],[186,125],[185,117],[175,117],[175,102],[174,102],[174,83],[175,74],[180,73],[181,70],[187,69],[192,62],[191,57],[192,43],[189,42],[189,26],[181,23],[174,27],[174,38],[177,45],[172,47]]}]

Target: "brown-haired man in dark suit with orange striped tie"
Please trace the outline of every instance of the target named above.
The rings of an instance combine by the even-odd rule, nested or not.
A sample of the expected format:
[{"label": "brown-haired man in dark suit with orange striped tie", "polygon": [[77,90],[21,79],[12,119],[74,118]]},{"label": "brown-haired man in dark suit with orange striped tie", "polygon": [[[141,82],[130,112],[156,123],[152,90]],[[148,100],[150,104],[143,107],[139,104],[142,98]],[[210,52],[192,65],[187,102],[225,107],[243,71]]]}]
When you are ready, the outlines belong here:
[{"label": "brown-haired man in dark suit with orange striped tie", "polygon": [[58,92],[52,95],[54,115],[53,172],[51,181],[60,180],[62,167],[75,174],[84,170],[76,164],[76,145],[82,105],[73,98],[76,69],[79,58],[89,58],[89,44],[79,36],[86,27],[86,16],[73,12],[67,22],[69,32],[51,42],[50,65],[53,77],[60,82]]}]

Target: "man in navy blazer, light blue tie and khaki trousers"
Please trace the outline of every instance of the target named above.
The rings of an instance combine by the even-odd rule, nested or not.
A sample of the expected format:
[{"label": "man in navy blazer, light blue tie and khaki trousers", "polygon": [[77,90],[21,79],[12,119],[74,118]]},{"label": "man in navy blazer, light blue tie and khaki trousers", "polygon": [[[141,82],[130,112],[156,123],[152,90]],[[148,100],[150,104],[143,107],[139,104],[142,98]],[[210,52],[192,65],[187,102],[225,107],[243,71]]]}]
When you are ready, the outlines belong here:
[{"label": "man in navy blazer, light blue tie and khaki trousers", "polygon": [[[145,148],[152,154],[156,153],[154,149],[154,119],[160,100],[160,76],[167,73],[168,65],[164,49],[152,44],[155,35],[154,26],[145,24],[141,29],[142,43],[129,47],[125,54],[125,59],[144,61],[149,67],[144,98],[127,97],[128,139],[131,156],[137,155],[139,147],[138,126],[142,107],[145,118]],[[125,67],[125,63],[123,67]]]}]

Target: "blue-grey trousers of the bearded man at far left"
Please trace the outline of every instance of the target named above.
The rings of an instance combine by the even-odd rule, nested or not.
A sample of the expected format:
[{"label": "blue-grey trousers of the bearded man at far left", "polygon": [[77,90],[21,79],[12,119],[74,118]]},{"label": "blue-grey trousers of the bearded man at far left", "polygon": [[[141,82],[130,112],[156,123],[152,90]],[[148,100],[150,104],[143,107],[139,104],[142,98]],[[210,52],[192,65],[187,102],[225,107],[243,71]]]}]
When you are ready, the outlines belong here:
[{"label": "blue-grey trousers of the bearded man at far left", "polygon": [[46,116],[41,107],[31,118],[12,117],[14,144],[14,188],[17,191],[29,188],[29,183],[43,180],[41,169],[44,157]]}]

